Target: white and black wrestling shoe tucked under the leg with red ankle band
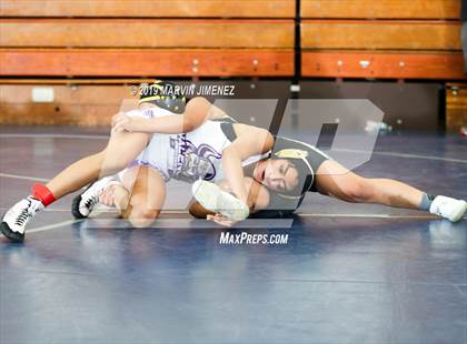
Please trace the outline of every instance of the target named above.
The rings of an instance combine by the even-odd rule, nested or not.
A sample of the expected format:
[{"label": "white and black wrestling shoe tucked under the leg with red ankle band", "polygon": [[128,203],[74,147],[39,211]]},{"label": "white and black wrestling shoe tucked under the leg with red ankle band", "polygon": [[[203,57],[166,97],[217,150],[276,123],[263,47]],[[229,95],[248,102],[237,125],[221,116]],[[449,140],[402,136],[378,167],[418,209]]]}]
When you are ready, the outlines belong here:
[{"label": "white and black wrestling shoe tucked under the leg with red ankle band", "polygon": [[92,209],[99,203],[99,195],[110,183],[118,183],[111,176],[102,178],[90,184],[83,193],[77,195],[71,204],[71,213],[74,219],[86,219]]}]

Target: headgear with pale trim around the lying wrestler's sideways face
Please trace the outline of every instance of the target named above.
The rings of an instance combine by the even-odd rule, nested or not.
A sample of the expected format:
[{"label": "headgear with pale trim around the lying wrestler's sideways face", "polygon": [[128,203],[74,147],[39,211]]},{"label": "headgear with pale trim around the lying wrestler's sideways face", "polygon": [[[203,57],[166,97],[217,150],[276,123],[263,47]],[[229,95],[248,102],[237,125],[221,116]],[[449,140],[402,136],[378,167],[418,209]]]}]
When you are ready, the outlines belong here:
[{"label": "headgear with pale trim around the lying wrestler's sideways face", "polygon": [[312,171],[311,164],[308,161],[308,152],[299,149],[284,149],[274,153],[274,155],[277,159],[294,160],[294,165],[296,166],[297,172],[299,174],[299,182],[297,185],[299,190],[298,195],[289,195],[284,193],[277,194],[284,199],[299,200],[311,188],[312,182],[315,180],[315,173]]}]

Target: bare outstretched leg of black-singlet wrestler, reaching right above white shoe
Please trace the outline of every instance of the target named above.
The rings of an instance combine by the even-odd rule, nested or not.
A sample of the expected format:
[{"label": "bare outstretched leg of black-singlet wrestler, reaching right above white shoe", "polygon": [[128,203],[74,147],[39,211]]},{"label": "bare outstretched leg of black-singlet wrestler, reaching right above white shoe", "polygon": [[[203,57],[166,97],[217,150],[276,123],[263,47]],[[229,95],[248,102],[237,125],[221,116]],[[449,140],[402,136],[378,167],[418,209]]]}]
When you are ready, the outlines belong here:
[{"label": "bare outstretched leg of black-singlet wrestler, reaching right above white shoe", "polygon": [[316,178],[320,193],[352,203],[420,209],[425,194],[399,181],[362,178],[332,160],[327,160],[319,166]]}]

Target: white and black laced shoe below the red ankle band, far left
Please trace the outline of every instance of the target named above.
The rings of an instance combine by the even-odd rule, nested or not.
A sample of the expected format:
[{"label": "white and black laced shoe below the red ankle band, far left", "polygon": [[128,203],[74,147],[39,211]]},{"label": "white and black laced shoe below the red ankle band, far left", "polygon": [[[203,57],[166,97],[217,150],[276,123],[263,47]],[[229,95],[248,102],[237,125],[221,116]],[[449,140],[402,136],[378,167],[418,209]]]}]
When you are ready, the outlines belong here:
[{"label": "white and black laced shoe below the red ankle band, far left", "polygon": [[0,224],[1,232],[12,242],[22,242],[26,225],[42,209],[42,202],[32,196],[19,201],[4,214]]}]

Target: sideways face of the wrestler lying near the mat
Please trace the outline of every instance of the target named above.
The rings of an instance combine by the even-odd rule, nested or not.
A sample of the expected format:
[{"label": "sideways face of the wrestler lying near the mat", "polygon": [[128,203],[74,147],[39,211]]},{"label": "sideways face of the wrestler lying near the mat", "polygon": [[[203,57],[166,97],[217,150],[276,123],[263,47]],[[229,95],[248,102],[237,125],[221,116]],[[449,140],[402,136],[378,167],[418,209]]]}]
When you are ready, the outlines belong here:
[{"label": "sideways face of the wrestler lying near the mat", "polygon": [[254,171],[256,181],[270,190],[287,192],[298,184],[298,171],[285,159],[269,159],[258,163]]}]

